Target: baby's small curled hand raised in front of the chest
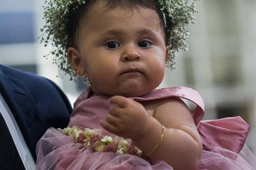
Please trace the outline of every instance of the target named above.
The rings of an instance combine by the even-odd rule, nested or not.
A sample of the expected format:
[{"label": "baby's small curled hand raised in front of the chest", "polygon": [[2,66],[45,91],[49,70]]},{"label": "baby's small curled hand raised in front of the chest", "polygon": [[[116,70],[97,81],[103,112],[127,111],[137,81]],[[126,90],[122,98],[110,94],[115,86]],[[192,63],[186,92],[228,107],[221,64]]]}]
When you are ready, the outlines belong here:
[{"label": "baby's small curled hand raised in front of the chest", "polygon": [[147,133],[150,117],[142,104],[123,96],[113,96],[106,121],[100,125],[107,131],[123,138],[138,139]]}]

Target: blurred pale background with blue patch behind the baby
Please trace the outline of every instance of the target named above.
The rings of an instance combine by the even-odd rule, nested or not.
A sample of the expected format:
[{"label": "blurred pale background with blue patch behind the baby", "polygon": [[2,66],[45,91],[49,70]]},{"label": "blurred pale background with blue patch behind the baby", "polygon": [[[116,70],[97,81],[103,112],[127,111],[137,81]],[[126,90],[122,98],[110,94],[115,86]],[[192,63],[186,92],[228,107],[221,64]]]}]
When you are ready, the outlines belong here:
[{"label": "blurred pale background with blue patch behind the baby", "polygon": [[[70,82],[37,37],[44,26],[44,0],[0,0],[0,63],[57,83],[73,104],[86,88]],[[241,116],[251,127],[247,145],[256,155],[256,1],[201,0],[190,25],[189,51],[177,55],[177,70],[166,69],[159,88],[191,87],[205,103],[203,119]],[[191,110],[194,105],[186,102]]]}]

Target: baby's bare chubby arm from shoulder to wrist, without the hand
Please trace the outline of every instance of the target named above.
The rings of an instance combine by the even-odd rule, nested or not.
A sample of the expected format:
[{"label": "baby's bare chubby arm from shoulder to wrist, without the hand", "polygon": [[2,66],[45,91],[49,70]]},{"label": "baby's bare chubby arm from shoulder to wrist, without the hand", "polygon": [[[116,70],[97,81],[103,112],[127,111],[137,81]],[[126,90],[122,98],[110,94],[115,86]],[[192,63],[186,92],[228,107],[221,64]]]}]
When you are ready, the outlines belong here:
[{"label": "baby's bare chubby arm from shoulder to wrist, without the hand", "polygon": [[154,118],[151,117],[148,134],[134,140],[134,144],[149,153],[158,143],[163,131],[161,124],[164,124],[163,141],[148,157],[164,160],[174,170],[195,170],[201,161],[202,141],[186,104],[175,97],[156,100]]}]

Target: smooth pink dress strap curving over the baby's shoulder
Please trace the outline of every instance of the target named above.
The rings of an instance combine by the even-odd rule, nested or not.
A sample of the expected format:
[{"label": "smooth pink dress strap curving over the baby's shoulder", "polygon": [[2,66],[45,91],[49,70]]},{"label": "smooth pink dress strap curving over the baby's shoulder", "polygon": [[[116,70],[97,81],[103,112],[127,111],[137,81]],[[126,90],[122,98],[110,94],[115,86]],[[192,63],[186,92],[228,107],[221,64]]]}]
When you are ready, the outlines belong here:
[{"label": "smooth pink dress strap curving over the baby's shoulder", "polygon": [[143,95],[141,97],[133,97],[131,99],[134,99],[135,101],[147,101],[147,100],[161,99],[161,98],[167,98],[167,97],[180,97],[195,103],[196,107],[193,112],[193,118],[197,127],[199,126],[199,122],[204,115],[204,103],[199,93],[191,88],[168,87],[168,88],[155,89],[146,95]]}]

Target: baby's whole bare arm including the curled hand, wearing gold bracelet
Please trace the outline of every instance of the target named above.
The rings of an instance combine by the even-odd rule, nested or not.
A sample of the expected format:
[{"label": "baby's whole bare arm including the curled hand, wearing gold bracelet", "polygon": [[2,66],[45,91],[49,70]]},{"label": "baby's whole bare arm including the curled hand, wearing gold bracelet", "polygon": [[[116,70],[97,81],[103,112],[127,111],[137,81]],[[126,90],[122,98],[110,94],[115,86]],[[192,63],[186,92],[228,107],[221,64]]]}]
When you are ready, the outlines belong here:
[{"label": "baby's whole bare arm including the curled hand, wearing gold bracelet", "polygon": [[164,160],[174,170],[196,169],[201,160],[202,142],[186,104],[179,98],[152,101],[154,117],[149,116],[143,105],[122,96],[114,96],[107,121],[101,125],[118,136],[131,138],[144,153],[149,153],[158,143],[163,132],[163,141],[148,157]]}]

